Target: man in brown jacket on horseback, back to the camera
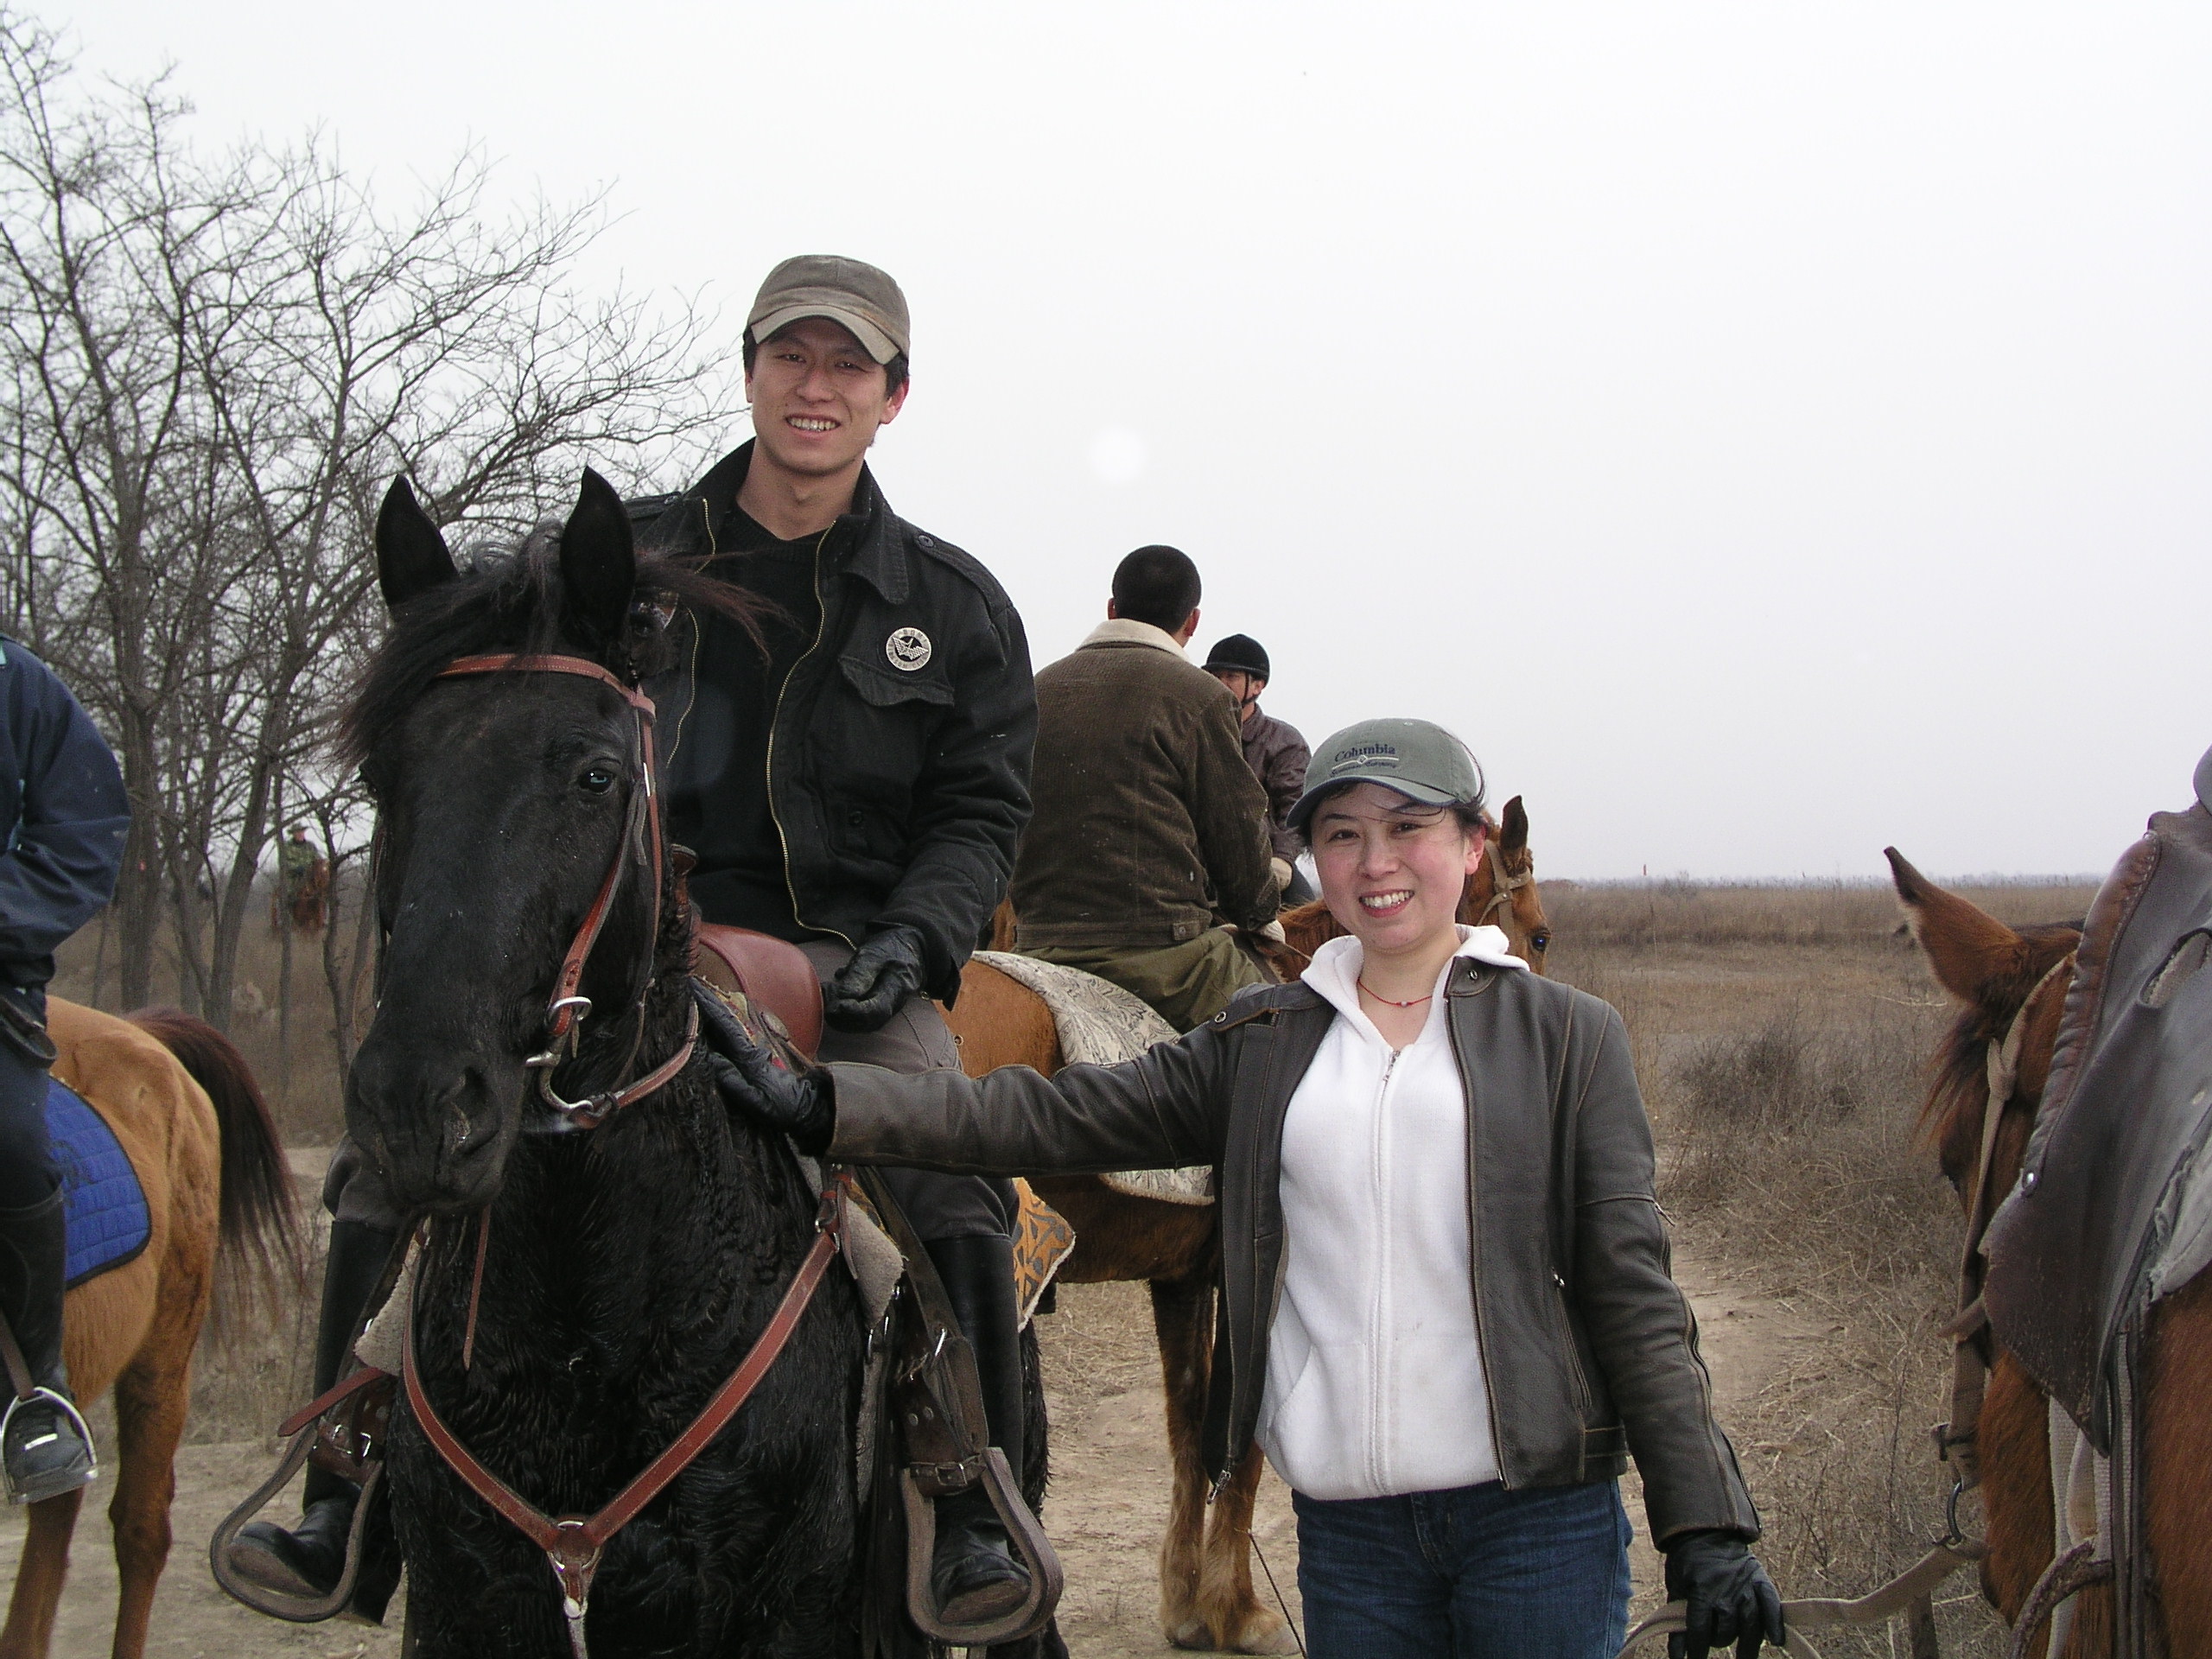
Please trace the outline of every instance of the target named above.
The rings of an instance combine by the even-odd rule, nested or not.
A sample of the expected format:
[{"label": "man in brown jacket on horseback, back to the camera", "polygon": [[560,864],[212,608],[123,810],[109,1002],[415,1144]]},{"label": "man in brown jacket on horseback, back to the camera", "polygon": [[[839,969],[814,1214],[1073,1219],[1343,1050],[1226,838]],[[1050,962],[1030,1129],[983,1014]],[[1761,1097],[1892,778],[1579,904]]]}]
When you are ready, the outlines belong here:
[{"label": "man in brown jacket on horseback, back to the camera", "polygon": [[1237,699],[1183,646],[1199,568],[1139,546],[1106,622],[1037,672],[1035,812],[1013,863],[1015,949],[1113,980],[1177,1031],[1267,975],[1223,922],[1281,907],[1267,794]]}]

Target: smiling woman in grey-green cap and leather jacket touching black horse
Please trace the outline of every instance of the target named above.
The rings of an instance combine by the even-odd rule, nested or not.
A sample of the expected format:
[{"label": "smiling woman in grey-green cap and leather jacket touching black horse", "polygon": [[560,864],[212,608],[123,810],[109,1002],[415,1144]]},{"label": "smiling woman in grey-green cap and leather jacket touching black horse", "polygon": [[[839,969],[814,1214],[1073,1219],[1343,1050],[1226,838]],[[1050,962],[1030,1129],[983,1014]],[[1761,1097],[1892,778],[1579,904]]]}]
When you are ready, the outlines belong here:
[{"label": "smiling woman in grey-green cap and leather jacket touching black horse", "polygon": [[1201,1440],[1298,1511],[1314,1659],[1610,1659],[1632,1453],[1677,1652],[1783,1646],[1697,1321],[1668,1274],[1621,1018],[1462,927],[1482,772],[1438,726],[1321,745],[1290,821],[1347,929],[1181,1042],[1040,1077],[779,1071],[726,1018],[739,1110],[845,1164],[1208,1164],[1221,1336]]}]

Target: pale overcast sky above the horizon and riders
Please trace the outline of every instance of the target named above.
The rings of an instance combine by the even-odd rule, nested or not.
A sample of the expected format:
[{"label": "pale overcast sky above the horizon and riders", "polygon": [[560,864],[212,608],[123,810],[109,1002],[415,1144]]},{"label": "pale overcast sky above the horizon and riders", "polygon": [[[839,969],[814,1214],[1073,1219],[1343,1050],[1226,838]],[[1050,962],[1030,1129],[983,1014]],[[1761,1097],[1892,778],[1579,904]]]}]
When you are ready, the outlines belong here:
[{"label": "pale overcast sky above the horizon and riders", "polygon": [[2212,743],[2203,4],[44,15],[208,137],[611,186],[588,276],[732,347],[885,265],[878,478],[1040,664],[1175,542],[1270,712],[1444,721],[1548,874],[2104,869]]}]

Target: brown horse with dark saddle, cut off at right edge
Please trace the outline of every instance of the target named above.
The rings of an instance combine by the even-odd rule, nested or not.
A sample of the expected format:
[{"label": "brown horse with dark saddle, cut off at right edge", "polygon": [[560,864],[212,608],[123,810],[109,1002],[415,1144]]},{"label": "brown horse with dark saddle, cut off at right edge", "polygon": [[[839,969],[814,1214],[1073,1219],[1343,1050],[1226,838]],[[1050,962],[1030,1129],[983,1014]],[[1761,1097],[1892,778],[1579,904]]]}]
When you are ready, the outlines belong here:
[{"label": "brown horse with dark saddle, cut off at right edge", "polygon": [[[1960,1194],[1973,1234],[2013,1190],[2051,1077],[2051,1053],[2081,938],[2075,927],[2011,929],[1936,887],[1896,849],[1889,867],[1929,969],[1962,1011],[1936,1053],[1922,1130]],[[2013,1091],[2000,1102],[1984,1168],[1991,1051],[2017,1044]],[[2002,1053],[1995,1071],[2004,1071]],[[1971,1336],[1969,1340],[1989,1340]],[[2143,1365],[2143,1500],[2157,1604],[2170,1659],[2212,1657],[2212,1274],[2157,1305]],[[1975,1427],[1989,1557],[1982,1595],[2017,1619],[2055,1551],[2051,1402],[1993,1345]],[[2112,1650],[2112,1595],[2081,1590],[2066,1655]],[[2046,1637],[2031,1648],[2044,1652]]]}]

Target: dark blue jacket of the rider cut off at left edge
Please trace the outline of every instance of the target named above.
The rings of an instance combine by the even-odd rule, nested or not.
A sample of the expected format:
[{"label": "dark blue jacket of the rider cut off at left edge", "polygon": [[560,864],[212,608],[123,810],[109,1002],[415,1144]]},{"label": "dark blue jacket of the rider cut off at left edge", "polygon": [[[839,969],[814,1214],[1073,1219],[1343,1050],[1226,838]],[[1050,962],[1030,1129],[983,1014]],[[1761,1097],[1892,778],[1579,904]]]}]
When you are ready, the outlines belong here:
[{"label": "dark blue jacket of the rider cut off at left edge", "polygon": [[115,894],[131,801],[115,754],[38,657],[0,637],[0,984],[42,987]]}]

